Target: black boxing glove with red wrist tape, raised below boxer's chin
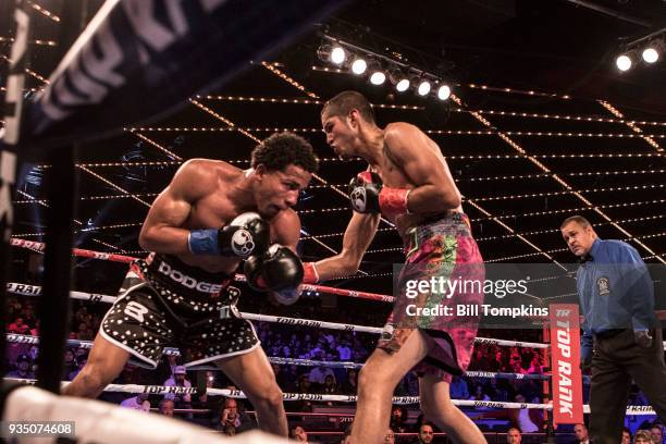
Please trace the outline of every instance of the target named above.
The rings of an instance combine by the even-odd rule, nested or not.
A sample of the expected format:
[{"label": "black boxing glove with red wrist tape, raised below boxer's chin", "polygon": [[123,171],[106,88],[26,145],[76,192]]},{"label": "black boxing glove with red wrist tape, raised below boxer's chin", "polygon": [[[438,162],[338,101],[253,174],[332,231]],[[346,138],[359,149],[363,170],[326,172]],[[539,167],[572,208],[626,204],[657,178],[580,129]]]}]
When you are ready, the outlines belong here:
[{"label": "black boxing glove with red wrist tape, raised below boxer's chin", "polygon": [[410,189],[384,186],[377,173],[363,171],[349,182],[351,208],[360,213],[382,212],[388,217],[409,213],[407,197]]}]

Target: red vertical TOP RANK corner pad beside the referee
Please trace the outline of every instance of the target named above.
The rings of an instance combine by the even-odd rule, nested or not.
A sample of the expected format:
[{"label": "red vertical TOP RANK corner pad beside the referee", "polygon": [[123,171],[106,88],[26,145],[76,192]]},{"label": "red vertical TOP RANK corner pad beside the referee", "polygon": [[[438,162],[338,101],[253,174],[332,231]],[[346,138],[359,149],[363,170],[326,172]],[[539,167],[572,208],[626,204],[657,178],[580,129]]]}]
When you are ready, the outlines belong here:
[{"label": "red vertical TOP RANK corner pad beside the referee", "polygon": [[578,305],[553,304],[551,355],[553,373],[553,424],[583,422]]}]

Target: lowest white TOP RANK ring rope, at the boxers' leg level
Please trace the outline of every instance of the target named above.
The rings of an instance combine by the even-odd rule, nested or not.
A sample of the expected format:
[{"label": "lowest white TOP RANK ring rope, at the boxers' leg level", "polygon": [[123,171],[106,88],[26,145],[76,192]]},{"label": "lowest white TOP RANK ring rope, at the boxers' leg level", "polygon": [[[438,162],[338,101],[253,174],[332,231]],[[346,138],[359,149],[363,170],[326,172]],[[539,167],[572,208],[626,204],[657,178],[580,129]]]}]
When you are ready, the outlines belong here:
[{"label": "lowest white TOP RANK ring rope, at the boxers' leg level", "polygon": [[[17,379],[17,378],[4,378],[5,381],[17,382],[26,385],[34,385],[36,380],[29,379]],[[62,386],[70,384],[70,381],[63,381]],[[162,386],[162,385],[138,385],[138,384],[109,384],[104,387],[104,392],[120,392],[120,393],[148,393],[151,395],[211,395],[211,396],[226,396],[232,398],[247,398],[247,396],[239,390],[229,388],[211,388],[206,387],[206,391],[199,390],[199,387],[183,387],[183,386]],[[314,402],[337,402],[337,403],[356,403],[358,396],[356,395],[320,395],[311,393],[283,393],[283,400],[314,400]],[[419,396],[394,396],[392,399],[393,404],[398,405],[411,405],[419,404]],[[535,403],[508,403],[499,400],[472,400],[472,399],[452,399],[452,403],[458,407],[489,407],[489,408],[518,408],[518,409],[539,409],[539,410],[552,410],[553,405],[551,404],[535,404]],[[590,406],[583,405],[583,412],[590,412]],[[628,406],[627,415],[656,415],[650,406]]]}]

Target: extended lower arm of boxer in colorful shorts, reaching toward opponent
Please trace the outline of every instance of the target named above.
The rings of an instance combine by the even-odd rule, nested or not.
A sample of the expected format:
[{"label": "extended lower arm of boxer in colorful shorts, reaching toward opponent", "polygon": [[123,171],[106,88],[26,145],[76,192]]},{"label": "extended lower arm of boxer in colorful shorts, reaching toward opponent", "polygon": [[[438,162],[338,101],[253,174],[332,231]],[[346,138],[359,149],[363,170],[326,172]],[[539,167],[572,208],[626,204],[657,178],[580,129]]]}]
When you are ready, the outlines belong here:
[{"label": "extended lower arm of boxer in colorful shorts, reaching toward opponent", "polygon": [[366,250],[374,238],[379,222],[380,214],[354,212],[343,237],[342,251],[314,263],[319,281],[356,273]]}]

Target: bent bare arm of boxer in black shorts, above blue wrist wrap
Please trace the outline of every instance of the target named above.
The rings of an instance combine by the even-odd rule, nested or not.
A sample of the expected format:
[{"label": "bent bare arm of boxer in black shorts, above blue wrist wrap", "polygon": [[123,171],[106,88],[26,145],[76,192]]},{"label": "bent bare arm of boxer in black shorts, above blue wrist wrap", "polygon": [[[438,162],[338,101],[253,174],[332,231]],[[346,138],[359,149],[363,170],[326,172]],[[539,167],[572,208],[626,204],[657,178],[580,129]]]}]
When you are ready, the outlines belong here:
[{"label": "bent bare arm of boxer in black shorts, above blue wrist wrap", "polygon": [[193,203],[205,196],[211,173],[205,161],[185,162],[166,188],[155,199],[141,226],[139,245],[147,251],[187,255],[187,221]]}]

